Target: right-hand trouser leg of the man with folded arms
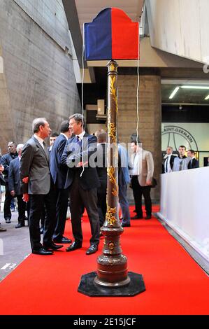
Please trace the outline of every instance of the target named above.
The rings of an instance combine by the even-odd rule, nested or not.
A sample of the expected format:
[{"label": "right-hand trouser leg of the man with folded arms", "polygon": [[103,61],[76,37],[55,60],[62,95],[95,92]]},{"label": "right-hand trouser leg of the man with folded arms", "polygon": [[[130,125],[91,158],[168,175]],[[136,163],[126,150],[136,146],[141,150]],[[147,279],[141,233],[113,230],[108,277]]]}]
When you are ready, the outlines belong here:
[{"label": "right-hand trouser leg of the man with folded arms", "polygon": [[82,188],[80,188],[80,195],[82,197],[82,202],[85,205],[85,209],[87,209],[87,214],[89,216],[89,222],[91,225],[92,237],[90,239],[90,244],[99,244],[97,188],[92,188],[91,190],[82,190]]}]

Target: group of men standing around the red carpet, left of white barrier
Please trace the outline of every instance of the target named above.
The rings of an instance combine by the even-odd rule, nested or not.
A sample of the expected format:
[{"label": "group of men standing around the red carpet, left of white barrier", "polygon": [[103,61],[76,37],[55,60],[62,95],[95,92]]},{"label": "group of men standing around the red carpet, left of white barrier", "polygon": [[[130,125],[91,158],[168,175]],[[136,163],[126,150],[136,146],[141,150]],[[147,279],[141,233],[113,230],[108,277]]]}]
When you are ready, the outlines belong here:
[{"label": "group of men standing around the red carpet, left of white barrier", "polygon": [[[71,205],[71,224],[74,241],[66,251],[82,247],[81,218],[87,211],[92,236],[87,255],[95,253],[99,246],[100,227],[106,216],[106,132],[99,131],[96,136],[85,132],[82,115],[75,113],[61,124],[60,134],[55,137],[49,149],[44,139],[50,137],[51,129],[45,118],[37,118],[32,124],[34,135],[26,144],[19,144],[15,171],[19,173],[18,189],[8,187],[8,198],[18,197],[22,202],[22,215],[19,214],[18,225],[24,225],[25,202],[29,205],[29,234],[32,253],[52,255],[54,251],[70,244],[71,239],[64,237],[66,214]],[[150,188],[154,172],[152,154],[143,150],[134,141],[133,155],[129,164],[127,150],[118,146],[119,162],[119,202],[122,209],[122,226],[131,226],[127,184],[130,182],[134,192],[136,216],[143,218],[142,195],[145,198],[146,219],[151,218],[152,202]],[[92,165],[95,155],[101,157],[101,166]],[[125,160],[124,160],[125,159]],[[10,165],[13,169],[13,165]],[[17,192],[18,190],[18,192]],[[21,199],[21,200],[19,200]],[[18,207],[19,208],[19,207]],[[7,204],[5,209],[7,209]],[[41,244],[40,220],[44,213],[43,244]],[[7,212],[5,211],[5,214]],[[9,211],[8,211],[9,214]],[[8,217],[9,218],[9,217]]]}]

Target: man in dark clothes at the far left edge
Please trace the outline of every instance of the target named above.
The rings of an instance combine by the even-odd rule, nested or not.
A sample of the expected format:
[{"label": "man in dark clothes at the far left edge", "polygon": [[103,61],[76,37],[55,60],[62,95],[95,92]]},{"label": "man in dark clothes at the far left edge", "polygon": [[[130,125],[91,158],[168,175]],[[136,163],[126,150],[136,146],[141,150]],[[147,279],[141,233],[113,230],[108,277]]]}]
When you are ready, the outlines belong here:
[{"label": "man in dark clothes at the far left edge", "polygon": [[13,141],[8,142],[8,153],[2,155],[1,157],[1,165],[3,165],[3,176],[5,179],[5,201],[4,201],[4,207],[3,207],[3,216],[6,221],[6,223],[10,223],[11,221],[11,211],[10,211],[10,204],[13,199],[12,195],[10,195],[10,191],[8,190],[8,167],[10,165],[10,162],[17,158],[17,152],[16,152],[16,145]]}]

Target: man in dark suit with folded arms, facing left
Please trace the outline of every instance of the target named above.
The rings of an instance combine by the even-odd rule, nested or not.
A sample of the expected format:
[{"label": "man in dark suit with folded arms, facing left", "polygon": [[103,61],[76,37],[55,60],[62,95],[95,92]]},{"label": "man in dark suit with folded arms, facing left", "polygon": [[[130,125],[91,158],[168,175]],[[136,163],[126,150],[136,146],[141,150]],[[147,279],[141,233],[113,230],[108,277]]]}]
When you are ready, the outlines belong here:
[{"label": "man in dark suit with folded arms, facing left", "polygon": [[65,187],[70,190],[71,223],[75,241],[66,251],[82,247],[81,216],[83,206],[87,209],[92,237],[87,255],[95,253],[99,244],[99,214],[97,209],[97,188],[99,179],[95,167],[96,137],[84,130],[83,117],[75,113],[69,118],[69,127],[75,137],[67,141],[62,155],[62,164],[69,167]]}]

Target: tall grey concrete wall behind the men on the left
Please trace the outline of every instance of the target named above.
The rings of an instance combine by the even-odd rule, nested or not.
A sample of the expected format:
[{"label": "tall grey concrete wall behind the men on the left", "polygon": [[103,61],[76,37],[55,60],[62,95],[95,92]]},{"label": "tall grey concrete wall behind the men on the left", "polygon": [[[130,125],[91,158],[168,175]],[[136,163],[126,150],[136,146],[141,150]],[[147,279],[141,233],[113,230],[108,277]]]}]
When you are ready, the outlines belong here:
[{"label": "tall grey concrete wall behind the men on the left", "polygon": [[80,111],[62,0],[1,0],[0,49],[3,152],[8,140],[30,137],[34,118],[45,116],[59,130],[62,120]]}]

